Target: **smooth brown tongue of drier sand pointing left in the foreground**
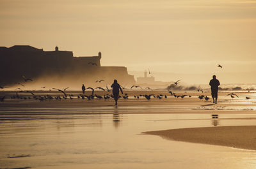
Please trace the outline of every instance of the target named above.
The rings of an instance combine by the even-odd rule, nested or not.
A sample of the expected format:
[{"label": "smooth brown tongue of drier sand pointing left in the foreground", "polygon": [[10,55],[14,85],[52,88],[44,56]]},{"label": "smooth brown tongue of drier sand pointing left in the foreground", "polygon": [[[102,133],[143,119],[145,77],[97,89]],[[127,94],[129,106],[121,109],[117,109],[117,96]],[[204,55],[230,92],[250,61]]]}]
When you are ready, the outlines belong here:
[{"label": "smooth brown tongue of drier sand pointing left in the foreground", "polygon": [[256,150],[256,126],[168,129],[163,131],[147,131],[144,134],[158,135],[166,139],[182,142]]}]

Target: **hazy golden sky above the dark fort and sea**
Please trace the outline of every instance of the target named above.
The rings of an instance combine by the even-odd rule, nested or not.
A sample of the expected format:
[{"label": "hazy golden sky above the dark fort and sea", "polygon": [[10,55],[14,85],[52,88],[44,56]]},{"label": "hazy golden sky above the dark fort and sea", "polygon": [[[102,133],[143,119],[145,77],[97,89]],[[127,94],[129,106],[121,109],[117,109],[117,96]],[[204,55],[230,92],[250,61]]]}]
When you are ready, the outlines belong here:
[{"label": "hazy golden sky above the dark fort and sea", "polygon": [[100,51],[102,66],[129,71],[256,79],[256,1],[0,0],[0,23],[4,47],[58,45],[74,56]]}]

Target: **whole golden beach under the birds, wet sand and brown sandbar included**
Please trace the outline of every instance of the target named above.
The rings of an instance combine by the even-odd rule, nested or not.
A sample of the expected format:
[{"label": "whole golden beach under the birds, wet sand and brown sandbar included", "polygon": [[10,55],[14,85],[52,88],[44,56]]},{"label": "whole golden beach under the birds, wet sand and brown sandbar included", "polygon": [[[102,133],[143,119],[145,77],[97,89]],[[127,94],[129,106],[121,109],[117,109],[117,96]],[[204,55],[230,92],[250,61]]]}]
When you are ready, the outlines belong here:
[{"label": "whole golden beach under the birds, wet sand and brown sandbar included", "polygon": [[[255,150],[254,92],[236,92],[239,98],[220,92],[218,104],[199,99],[202,92],[175,92],[188,95],[184,98],[168,91],[124,93],[128,99],[118,99],[115,106],[113,99],[77,98],[79,91],[68,92],[72,99],[44,101],[28,99],[29,93],[19,93],[27,99],[11,99],[15,92],[0,92],[7,96],[0,102],[1,167],[238,169],[256,165],[255,152],[248,151]],[[148,101],[140,96],[152,93],[163,98]],[[63,96],[35,92],[46,94]],[[218,118],[212,119],[212,114]]]}]

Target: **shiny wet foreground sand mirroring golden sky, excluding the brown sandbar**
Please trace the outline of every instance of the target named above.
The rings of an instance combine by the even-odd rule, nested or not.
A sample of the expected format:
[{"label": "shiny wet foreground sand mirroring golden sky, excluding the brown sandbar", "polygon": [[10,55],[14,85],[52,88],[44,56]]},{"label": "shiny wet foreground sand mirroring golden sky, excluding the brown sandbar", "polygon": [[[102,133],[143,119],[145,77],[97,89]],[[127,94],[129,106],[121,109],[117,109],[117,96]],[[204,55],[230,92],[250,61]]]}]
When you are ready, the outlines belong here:
[{"label": "shiny wet foreground sand mirroring golden sky, excluding the brown sandbar", "polygon": [[[157,108],[168,110],[169,107]],[[140,109],[141,114],[126,113],[134,109]],[[31,168],[76,168],[76,164],[79,165],[77,168],[172,166],[181,169],[182,161],[182,168],[221,168],[222,165],[216,161],[223,162],[223,158],[227,159],[223,166],[230,165],[232,161],[234,165],[230,167],[234,169],[244,166],[253,168],[255,165],[255,162],[252,167],[247,165],[250,161],[248,158],[253,156],[251,152],[248,154],[223,147],[169,142],[154,136],[140,135],[143,131],[211,127],[212,121],[219,125],[218,119],[211,118],[211,113],[145,114],[148,109],[108,106],[74,111],[72,108],[57,108],[61,114],[55,112],[54,108],[37,114],[32,111],[23,114],[10,109],[8,113],[0,115],[0,165],[3,168],[21,168],[27,164],[31,164]],[[26,112],[26,109],[22,111]],[[221,126],[253,125],[256,123],[255,117],[255,114],[221,114]],[[207,158],[208,163],[202,164],[202,158]],[[236,162],[238,159],[239,163]],[[195,165],[191,166],[191,163]]]}]

